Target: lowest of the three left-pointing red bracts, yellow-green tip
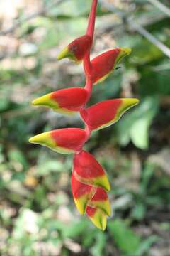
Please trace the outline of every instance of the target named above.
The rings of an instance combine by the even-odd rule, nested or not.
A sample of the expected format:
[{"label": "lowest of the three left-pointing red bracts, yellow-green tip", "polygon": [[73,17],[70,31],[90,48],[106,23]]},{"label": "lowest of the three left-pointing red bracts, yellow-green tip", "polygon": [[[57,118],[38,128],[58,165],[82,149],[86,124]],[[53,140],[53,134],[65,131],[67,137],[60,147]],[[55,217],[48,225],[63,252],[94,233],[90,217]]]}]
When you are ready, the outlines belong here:
[{"label": "lowest of the three left-pointing red bracts, yellow-green tip", "polygon": [[86,132],[79,128],[55,129],[43,132],[29,139],[30,143],[47,146],[62,154],[79,152],[86,142]]}]

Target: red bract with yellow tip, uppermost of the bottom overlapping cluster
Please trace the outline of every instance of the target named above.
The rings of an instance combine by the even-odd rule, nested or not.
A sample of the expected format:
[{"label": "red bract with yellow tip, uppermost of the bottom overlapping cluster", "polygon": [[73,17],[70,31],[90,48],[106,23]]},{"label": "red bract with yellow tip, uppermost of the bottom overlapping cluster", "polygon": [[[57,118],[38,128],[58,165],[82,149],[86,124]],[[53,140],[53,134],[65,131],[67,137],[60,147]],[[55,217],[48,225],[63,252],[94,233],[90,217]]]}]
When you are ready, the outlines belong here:
[{"label": "red bract with yellow tip, uppermost of the bottom overlapping cluster", "polygon": [[94,186],[99,186],[106,191],[111,189],[108,177],[103,171],[101,165],[96,161],[94,156],[86,151],[81,151],[74,156],[74,172],[79,176],[79,180]]}]

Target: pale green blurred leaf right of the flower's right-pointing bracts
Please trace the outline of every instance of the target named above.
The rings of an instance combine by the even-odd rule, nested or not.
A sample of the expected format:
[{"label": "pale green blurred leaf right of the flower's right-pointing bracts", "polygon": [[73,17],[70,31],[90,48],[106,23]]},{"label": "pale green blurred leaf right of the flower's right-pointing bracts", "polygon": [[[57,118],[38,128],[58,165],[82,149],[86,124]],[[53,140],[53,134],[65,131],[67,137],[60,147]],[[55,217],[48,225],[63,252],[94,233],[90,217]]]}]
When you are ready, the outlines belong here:
[{"label": "pale green blurred leaf right of the flower's right-pointing bracts", "polygon": [[126,146],[130,139],[140,149],[147,149],[149,144],[149,127],[158,110],[157,97],[146,97],[135,110],[127,113],[118,122],[120,144]]}]

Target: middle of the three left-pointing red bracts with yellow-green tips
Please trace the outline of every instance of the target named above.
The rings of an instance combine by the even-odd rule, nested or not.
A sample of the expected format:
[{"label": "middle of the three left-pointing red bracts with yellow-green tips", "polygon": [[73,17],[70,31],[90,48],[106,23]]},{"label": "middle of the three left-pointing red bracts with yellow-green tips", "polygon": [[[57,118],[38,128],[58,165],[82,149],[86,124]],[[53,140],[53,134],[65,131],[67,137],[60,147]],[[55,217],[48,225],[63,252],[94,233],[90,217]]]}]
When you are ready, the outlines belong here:
[{"label": "middle of the three left-pointing red bracts with yellow-green tips", "polygon": [[75,114],[86,104],[88,92],[81,87],[57,90],[33,100],[33,105],[43,105],[62,114]]}]

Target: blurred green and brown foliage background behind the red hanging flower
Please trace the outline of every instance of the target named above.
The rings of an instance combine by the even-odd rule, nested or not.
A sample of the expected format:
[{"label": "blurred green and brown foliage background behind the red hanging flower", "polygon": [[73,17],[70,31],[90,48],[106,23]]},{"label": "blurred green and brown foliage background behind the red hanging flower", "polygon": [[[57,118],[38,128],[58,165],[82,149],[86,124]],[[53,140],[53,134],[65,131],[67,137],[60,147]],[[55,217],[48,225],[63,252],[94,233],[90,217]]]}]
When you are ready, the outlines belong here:
[{"label": "blurred green and brown foliage background behind the red hanging flower", "polygon": [[28,144],[34,134],[84,127],[31,100],[84,86],[82,65],[56,60],[86,31],[90,0],[0,1],[0,255],[170,255],[170,2],[101,0],[91,56],[131,47],[90,105],[138,97],[140,105],[86,144],[111,181],[113,216],[101,232],[80,216],[72,156]]}]

